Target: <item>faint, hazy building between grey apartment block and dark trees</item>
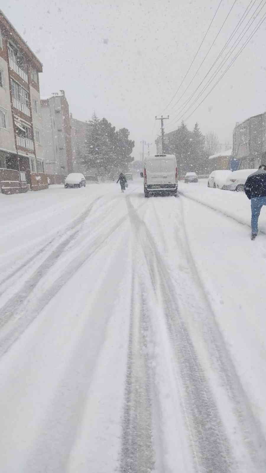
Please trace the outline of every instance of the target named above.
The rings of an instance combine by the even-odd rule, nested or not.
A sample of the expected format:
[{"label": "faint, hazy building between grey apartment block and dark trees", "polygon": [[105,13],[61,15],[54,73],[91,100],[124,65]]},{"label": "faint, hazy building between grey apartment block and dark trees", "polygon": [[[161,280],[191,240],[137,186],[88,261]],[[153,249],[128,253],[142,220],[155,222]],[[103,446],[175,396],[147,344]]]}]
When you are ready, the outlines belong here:
[{"label": "faint, hazy building between grey apartment block and dark trees", "polygon": [[70,124],[74,172],[85,174],[86,168],[82,161],[84,160],[85,145],[89,136],[90,125],[88,122],[76,120],[72,117],[72,114],[70,114]]}]

